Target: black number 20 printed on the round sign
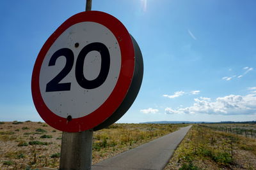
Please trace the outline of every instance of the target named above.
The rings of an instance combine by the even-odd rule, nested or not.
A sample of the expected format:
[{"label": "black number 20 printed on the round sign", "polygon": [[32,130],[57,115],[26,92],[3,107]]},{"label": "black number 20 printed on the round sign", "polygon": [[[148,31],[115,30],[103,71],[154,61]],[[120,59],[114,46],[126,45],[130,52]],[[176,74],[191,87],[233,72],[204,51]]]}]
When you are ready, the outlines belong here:
[{"label": "black number 20 printed on the round sign", "polygon": [[[84,67],[84,59],[89,52],[97,51],[100,53],[101,57],[101,65],[100,65],[100,73],[94,80],[87,80],[84,77],[83,67]],[[50,61],[49,66],[54,66],[56,64],[56,60],[58,57],[65,56],[66,57],[66,65],[61,70],[59,74],[55,78],[53,78],[46,85],[45,92],[56,92],[56,91],[67,91],[70,90],[71,83],[60,83],[60,81],[67,76],[67,74],[71,71],[74,64],[74,53],[69,48],[61,48],[56,51]],[[77,57],[76,61],[76,80],[77,83],[83,87],[84,89],[95,89],[100,87],[106,81],[106,78],[109,73],[110,67],[110,55],[108,48],[106,45],[102,43],[90,43],[89,45],[84,46]]]}]

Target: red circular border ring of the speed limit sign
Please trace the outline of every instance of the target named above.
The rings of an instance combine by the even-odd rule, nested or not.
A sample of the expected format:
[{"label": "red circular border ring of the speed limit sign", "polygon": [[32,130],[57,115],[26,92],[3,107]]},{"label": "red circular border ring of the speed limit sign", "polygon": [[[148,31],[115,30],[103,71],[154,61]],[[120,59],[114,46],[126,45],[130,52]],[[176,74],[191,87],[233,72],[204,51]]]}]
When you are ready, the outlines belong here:
[{"label": "red circular border ring of the speed limit sign", "polygon": [[[67,118],[59,117],[58,115],[52,113],[49,108],[47,108],[40,93],[39,76],[42,62],[51,45],[66,29],[68,29],[68,27],[79,22],[97,22],[105,27],[108,27],[108,29],[113,32],[118,40],[122,61],[118,81],[108,99],[97,110],[90,113],[90,115],[86,115],[81,118],[73,118],[70,122],[68,122]],[[129,90],[133,74],[134,47],[131,36],[125,26],[118,19],[112,15],[109,15],[108,13],[100,11],[86,11],[77,13],[76,15],[68,18],[68,20],[66,20],[60,25],[60,27],[58,27],[58,29],[56,29],[56,31],[53,32],[53,34],[45,42],[38,54],[38,57],[36,58],[31,80],[33,102],[39,115],[47,124],[51,125],[55,129],[65,132],[86,131],[104,122],[104,120],[110,117],[118,106],[120,106],[127,94],[127,91]]]}]

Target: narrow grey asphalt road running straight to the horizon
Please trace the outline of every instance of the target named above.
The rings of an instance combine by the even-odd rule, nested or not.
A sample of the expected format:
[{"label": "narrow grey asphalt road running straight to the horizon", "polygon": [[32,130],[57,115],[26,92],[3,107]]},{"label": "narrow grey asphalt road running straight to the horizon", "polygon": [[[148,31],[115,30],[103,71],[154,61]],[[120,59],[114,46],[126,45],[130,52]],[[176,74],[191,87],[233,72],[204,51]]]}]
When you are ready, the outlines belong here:
[{"label": "narrow grey asphalt road running straight to the horizon", "polygon": [[163,169],[190,128],[191,125],[182,127],[179,131],[103,160],[93,165],[92,170]]}]

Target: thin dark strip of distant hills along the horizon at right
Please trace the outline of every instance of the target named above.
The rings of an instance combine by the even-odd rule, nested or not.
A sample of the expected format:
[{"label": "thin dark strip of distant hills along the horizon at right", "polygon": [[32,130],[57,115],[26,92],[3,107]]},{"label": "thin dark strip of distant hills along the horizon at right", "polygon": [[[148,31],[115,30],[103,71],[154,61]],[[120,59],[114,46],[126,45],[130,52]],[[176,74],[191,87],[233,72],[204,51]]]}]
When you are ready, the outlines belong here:
[{"label": "thin dark strip of distant hills along the horizon at right", "polygon": [[256,121],[248,122],[191,122],[191,121],[158,121],[158,122],[141,122],[140,124],[256,124]]}]

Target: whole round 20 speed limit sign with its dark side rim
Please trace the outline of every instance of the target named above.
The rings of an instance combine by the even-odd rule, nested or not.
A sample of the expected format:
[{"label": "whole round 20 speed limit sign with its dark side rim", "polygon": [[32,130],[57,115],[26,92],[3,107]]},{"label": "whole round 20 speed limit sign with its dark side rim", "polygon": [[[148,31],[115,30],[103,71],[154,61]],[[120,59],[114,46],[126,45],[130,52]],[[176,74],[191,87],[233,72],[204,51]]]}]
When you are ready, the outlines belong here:
[{"label": "whole round 20 speed limit sign with its dark side rim", "polygon": [[99,130],[129,109],[142,76],[140,48],[124,25],[86,11],[68,18],[42,46],[31,90],[36,110],[52,127]]}]

